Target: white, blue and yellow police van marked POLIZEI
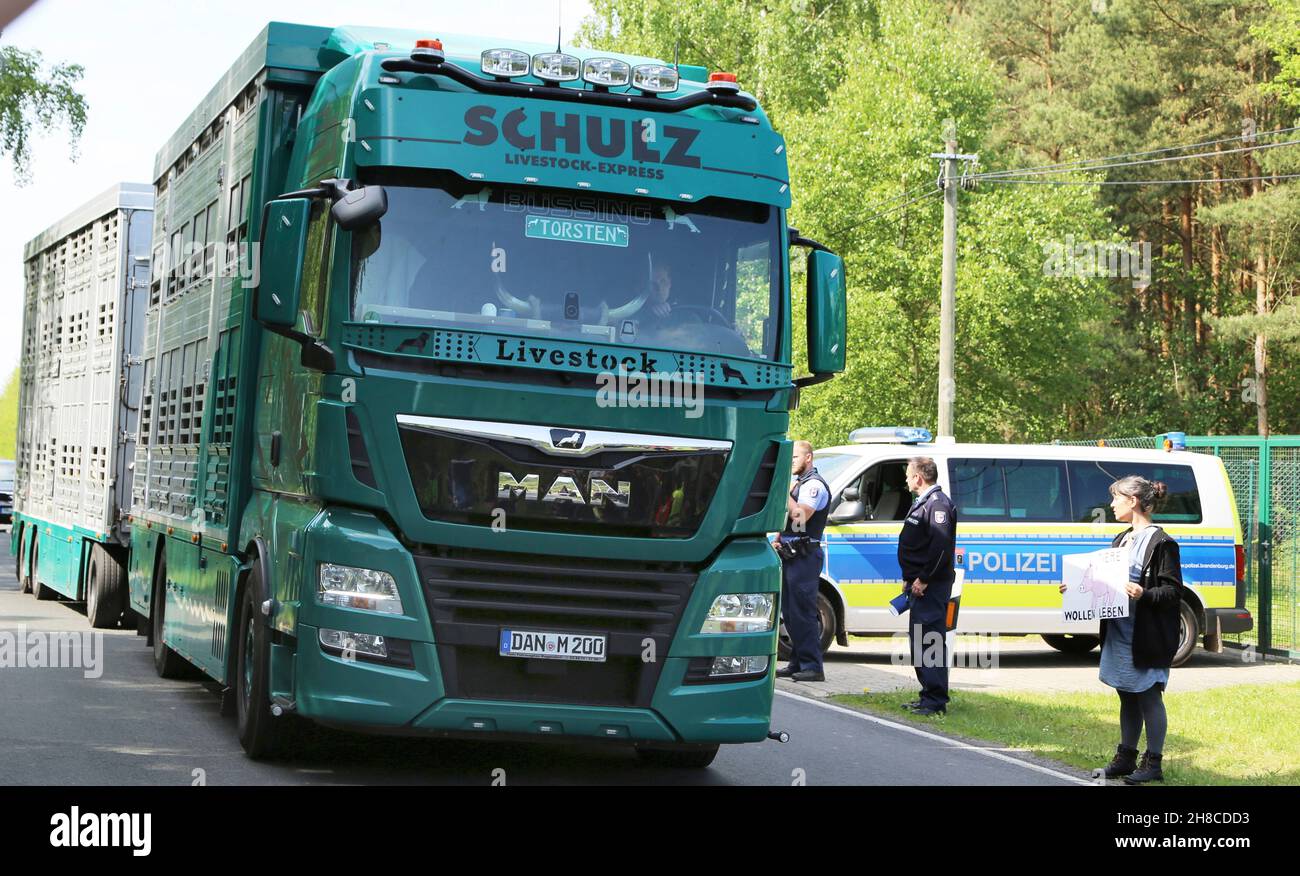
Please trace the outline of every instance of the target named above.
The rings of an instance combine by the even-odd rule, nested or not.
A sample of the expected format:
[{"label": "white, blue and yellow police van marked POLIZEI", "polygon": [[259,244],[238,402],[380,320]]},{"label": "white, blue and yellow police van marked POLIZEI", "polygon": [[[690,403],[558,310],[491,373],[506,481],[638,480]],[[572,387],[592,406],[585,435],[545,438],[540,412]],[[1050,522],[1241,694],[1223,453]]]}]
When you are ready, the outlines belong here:
[{"label": "white, blue and yellow police van marked POLIZEI", "polygon": [[1127,474],[1164,481],[1165,504],[1153,515],[1178,541],[1183,581],[1182,641],[1174,665],[1204,637],[1251,629],[1244,606],[1242,524],[1223,463],[1182,450],[970,444],[932,442],[924,429],[858,429],[853,442],[815,452],[831,485],[823,535],[826,565],[819,615],[822,645],[849,636],[906,630],[889,612],[902,586],[897,546],[913,496],[907,460],[930,456],[939,483],[957,506],[956,565],[965,569],[958,633],[1041,636],[1067,654],[1097,646],[1097,628],[1066,624],[1061,615],[1061,560],[1066,554],[1110,547],[1126,525],[1110,509],[1110,485]]}]

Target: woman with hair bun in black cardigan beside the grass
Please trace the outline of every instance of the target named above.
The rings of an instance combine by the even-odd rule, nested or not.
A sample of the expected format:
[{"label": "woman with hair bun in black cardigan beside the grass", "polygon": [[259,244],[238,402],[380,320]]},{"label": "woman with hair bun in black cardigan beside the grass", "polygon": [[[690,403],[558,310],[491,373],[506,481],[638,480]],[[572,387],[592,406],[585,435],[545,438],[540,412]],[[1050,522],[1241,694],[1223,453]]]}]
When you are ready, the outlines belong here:
[{"label": "woman with hair bun in black cardigan beside the grass", "polygon": [[[1162,781],[1165,686],[1178,651],[1183,571],[1178,542],[1150,521],[1166,487],[1136,474],[1110,485],[1115,520],[1128,529],[1112,547],[1128,550],[1128,616],[1101,620],[1101,680],[1119,694],[1119,747],[1102,769],[1140,785]],[[1062,593],[1065,585],[1061,585]],[[1147,727],[1147,751],[1138,763],[1138,741]]]}]

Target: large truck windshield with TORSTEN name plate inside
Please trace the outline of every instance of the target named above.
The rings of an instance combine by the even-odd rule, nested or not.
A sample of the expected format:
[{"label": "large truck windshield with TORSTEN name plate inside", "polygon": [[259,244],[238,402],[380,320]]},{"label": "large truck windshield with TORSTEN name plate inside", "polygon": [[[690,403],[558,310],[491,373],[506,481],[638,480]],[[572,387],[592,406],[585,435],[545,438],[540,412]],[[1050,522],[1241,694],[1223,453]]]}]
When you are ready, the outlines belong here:
[{"label": "large truck windshield with TORSTEN name plate inside", "polygon": [[352,235],[356,320],[775,359],[775,208],[377,182],[389,211]]}]

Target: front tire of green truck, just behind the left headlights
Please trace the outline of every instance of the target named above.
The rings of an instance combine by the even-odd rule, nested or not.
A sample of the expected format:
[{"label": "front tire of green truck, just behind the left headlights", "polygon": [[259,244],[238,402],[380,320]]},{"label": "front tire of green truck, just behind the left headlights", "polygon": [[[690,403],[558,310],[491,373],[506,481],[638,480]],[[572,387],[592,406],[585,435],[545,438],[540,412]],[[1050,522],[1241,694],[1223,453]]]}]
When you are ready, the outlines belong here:
[{"label": "front tire of green truck, just behind the left headlights", "polygon": [[261,564],[255,560],[239,600],[234,675],[239,745],[254,760],[282,754],[295,720],[291,715],[270,714],[270,630],[261,623],[264,593]]}]

